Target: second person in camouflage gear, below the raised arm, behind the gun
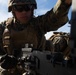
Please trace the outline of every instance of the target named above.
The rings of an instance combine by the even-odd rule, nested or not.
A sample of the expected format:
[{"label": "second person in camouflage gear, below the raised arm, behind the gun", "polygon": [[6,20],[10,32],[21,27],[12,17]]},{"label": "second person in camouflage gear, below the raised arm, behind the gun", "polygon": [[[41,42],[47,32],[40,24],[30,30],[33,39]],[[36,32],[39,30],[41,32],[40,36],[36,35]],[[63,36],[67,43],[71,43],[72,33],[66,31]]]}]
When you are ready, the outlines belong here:
[{"label": "second person in camouflage gear, below the raised arm, behind the gun", "polygon": [[[69,38],[70,34],[65,32],[53,32],[54,34],[49,38],[53,43],[53,51],[52,52],[61,52],[65,57],[71,55],[71,50],[69,47]],[[67,59],[68,59],[67,58]]]}]

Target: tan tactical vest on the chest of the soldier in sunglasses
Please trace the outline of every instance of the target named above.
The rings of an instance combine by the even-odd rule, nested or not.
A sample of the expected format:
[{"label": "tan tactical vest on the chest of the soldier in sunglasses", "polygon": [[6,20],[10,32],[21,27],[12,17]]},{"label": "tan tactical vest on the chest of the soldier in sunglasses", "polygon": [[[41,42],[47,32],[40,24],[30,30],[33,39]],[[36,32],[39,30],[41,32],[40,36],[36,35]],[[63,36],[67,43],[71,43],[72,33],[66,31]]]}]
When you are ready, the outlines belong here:
[{"label": "tan tactical vest on the chest of the soldier in sunglasses", "polygon": [[[34,25],[28,25],[21,31],[16,31],[12,28],[13,19],[8,19],[6,28],[3,34],[4,47],[9,45],[9,49],[21,49],[25,44],[32,44],[33,49],[44,50],[45,37],[40,33],[39,29]],[[9,41],[7,41],[9,39]],[[6,41],[6,42],[5,42]],[[12,49],[11,49],[11,48]]]}]

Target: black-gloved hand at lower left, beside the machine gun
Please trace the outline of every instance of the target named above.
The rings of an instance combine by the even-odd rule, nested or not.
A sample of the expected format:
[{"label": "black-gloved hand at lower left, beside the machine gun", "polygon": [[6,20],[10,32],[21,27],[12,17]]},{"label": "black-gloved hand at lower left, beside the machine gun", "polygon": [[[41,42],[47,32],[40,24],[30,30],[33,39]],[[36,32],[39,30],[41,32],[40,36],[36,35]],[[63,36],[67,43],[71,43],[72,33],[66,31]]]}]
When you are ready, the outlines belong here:
[{"label": "black-gloved hand at lower left, beside the machine gun", "polygon": [[4,69],[11,69],[16,67],[18,60],[12,55],[4,55],[1,57],[1,67]]}]

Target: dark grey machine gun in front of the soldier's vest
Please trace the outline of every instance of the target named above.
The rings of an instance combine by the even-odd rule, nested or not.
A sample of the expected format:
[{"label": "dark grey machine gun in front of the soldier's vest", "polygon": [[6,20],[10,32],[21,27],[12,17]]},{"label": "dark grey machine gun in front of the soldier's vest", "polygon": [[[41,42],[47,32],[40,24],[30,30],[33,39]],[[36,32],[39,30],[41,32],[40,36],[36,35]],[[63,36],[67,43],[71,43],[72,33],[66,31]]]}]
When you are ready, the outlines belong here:
[{"label": "dark grey machine gun in front of the soldier's vest", "polygon": [[24,75],[74,75],[76,66],[71,61],[65,60],[63,53],[34,50],[25,57]]}]

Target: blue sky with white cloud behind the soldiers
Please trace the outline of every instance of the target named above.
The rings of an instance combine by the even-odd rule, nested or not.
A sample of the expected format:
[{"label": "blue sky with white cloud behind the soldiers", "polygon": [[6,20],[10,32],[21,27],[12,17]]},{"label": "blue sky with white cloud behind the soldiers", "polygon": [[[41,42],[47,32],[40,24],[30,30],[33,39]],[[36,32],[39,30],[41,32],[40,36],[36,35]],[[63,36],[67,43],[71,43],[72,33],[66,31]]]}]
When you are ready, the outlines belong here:
[{"label": "blue sky with white cloud behind the soldiers", "polygon": [[[52,9],[56,4],[57,0],[36,0],[37,1],[37,10],[34,11],[36,16],[45,14],[47,11]],[[8,13],[8,0],[0,0],[0,22],[6,20],[8,17],[11,17],[12,14]],[[71,8],[68,14],[69,19],[71,18]],[[57,31],[61,32],[70,32],[69,24],[66,23],[63,27],[59,28]],[[48,39],[52,35],[52,32],[48,32],[45,36]]]}]

